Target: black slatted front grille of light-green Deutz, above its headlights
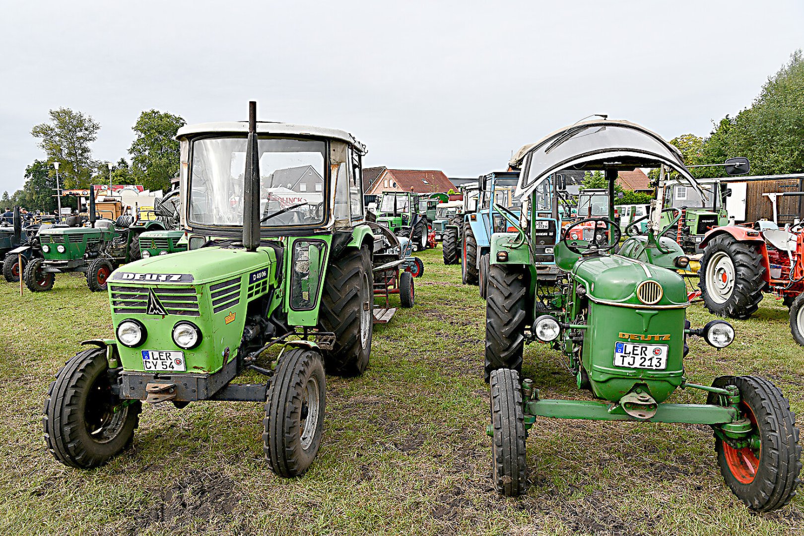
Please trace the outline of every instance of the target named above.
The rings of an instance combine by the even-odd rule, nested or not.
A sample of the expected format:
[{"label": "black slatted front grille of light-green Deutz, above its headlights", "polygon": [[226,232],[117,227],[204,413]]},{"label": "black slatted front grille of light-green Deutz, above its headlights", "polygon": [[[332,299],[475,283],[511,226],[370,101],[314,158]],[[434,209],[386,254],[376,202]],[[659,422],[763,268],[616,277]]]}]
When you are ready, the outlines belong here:
[{"label": "black slatted front grille of light-green Deutz, above its headlights", "polygon": [[199,299],[194,287],[133,287],[110,284],[112,312],[117,314],[145,314],[148,309],[149,291],[165,308],[166,313],[184,317],[199,317]]}]

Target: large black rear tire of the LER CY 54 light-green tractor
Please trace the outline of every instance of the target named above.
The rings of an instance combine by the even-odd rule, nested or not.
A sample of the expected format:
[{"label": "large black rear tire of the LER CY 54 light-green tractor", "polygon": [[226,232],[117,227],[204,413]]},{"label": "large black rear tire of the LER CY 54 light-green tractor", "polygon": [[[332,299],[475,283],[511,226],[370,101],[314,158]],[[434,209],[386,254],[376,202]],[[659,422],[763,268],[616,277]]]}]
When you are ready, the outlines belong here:
[{"label": "large black rear tire of the LER CY 54 light-green tractor", "polygon": [[[360,319],[364,309],[360,291],[365,280],[368,302],[366,313],[369,321],[368,339],[363,346]],[[366,370],[374,325],[371,313],[374,305],[373,286],[374,276],[368,248],[349,248],[327,267],[318,323],[324,331],[335,334],[333,349],[324,351],[328,374],[355,376]]]}]

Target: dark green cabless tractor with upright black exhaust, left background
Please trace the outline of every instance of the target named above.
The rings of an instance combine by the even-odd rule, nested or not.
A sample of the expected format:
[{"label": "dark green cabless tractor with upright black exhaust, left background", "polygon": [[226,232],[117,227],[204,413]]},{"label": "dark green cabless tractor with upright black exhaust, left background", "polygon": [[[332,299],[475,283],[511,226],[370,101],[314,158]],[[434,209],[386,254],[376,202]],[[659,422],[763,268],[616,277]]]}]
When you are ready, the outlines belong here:
[{"label": "dark green cabless tractor with upright black exhaust, left background", "polygon": [[94,188],[88,192],[88,221],[82,227],[58,224],[39,231],[42,256],[32,258],[23,270],[23,280],[31,292],[51,290],[55,274],[64,272],[84,272],[90,290],[105,292],[115,268],[140,258],[139,235],[165,228],[158,220],[139,222],[131,215],[98,219]]}]

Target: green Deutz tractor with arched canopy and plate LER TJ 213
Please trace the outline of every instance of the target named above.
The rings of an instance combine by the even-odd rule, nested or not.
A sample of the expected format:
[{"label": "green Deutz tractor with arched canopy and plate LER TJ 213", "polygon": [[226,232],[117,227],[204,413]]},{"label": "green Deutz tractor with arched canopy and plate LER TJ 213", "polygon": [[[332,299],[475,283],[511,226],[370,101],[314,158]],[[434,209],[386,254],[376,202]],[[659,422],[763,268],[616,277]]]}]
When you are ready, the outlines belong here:
[{"label": "green Deutz tractor with arched canopy and plate LER TJ 213", "polygon": [[[541,186],[556,172],[603,170],[611,189],[619,170],[672,165],[674,159],[660,137],[626,121],[577,123],[526,145],[512,159],[530,211],[523,207],[518,218],[500,207],[517,231],[493,235],[486,306],[487,432],[500,493],[524,492],[528,431],[537,417],[552,417],[707,424],[714,431],[720,472],[749,508],[776,509],[794,495],[801,446],[781,391],[753,376],[721,376],[712,386],[685,378],[687,338],[699,336],[720,349],[732,342],[732,326],[716,320],[691,329],[679,274],[609,253],[620,238],[613,207],[608,217],[572,224],[560,240],[555,231],[550,235],[560,228],[559,198],[552,189],[546,206]],[[608,227],[609,235],[572,239],[572,227],[584,221]],[[542,280],[536,276],[535,245],[551,237],[560,275]],[[520,378],[523,345],[530,342],[544,342],[562,354],[577,387],[598,401],[542,399],[530,379]],[[703,391],[705,403],[668,403],[679,387]]]}]

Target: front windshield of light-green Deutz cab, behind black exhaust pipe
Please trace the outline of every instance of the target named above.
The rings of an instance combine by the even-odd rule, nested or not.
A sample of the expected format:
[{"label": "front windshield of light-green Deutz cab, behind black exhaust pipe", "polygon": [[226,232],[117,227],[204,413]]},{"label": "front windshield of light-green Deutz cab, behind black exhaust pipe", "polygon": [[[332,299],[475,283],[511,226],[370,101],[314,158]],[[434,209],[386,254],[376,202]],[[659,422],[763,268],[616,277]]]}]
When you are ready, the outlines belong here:
[{"label": "front windshield of light-green Deutz cab, behind black exhaust pipe", "polygon": [[[326,143],[260,138],[258,147],[262,226],[323,223]],[[202,138],[191,155],[191,223],[243,225],[246,138]]]}]

